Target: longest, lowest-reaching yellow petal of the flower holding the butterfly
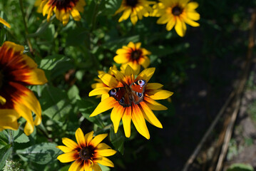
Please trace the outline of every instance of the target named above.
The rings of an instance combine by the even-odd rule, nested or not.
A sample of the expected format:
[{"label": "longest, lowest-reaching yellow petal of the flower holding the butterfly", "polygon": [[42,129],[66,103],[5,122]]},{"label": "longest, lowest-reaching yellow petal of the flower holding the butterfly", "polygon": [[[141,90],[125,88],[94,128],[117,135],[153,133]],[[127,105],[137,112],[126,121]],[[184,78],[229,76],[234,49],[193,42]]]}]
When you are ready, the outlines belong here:
[{"label": "longest, lowest-reaching yellow petal of the flower holding the butterfly", "polygon": [[133,120],[133,124],[135,125],[136,130],[138,130],[138,133],[149,139],[150,135],[148,132],[148,127],[145,124],[143,113],[141,112],[138,105],[133,105],[133,113],[131,115],[131,118]]}]

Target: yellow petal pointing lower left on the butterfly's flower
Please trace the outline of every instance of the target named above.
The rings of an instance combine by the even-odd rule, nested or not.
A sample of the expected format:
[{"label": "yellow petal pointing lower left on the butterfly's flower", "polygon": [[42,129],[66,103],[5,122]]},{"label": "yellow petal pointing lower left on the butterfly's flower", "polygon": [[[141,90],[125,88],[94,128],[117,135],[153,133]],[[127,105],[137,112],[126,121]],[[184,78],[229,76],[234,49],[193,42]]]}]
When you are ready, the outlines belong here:
[{"label": "yellow petal pointing lower left on the butterfly's flower", "polygon": [[118,104],[119,103],[115,98],[112,98],[112,97],[106,98],[105,100],[101,101],[101,103],[98,104],[97,108],[93,111],[93,113],[91,113],[90,117],[103,113],[106,110],[109,110]]}]

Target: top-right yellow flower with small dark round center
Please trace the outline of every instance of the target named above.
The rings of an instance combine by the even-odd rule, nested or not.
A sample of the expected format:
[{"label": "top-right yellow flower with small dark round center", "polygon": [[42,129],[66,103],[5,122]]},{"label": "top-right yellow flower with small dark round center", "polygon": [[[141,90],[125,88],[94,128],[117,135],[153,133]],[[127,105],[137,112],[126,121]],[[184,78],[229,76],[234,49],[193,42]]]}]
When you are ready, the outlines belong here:
[{"label": "top-right yellow flower with small dark round center", "polygon": [[159,0],[158,4],[153,6],[152,16],[160,17],[157,24],[167,24],[166,30],[170,31],[175,26],[175,31],[183,37],[187,30],[186,24],[190,26],[200,26],[197,22],[200,14],[195,11],[198,8],[197,2],[189,0]]}]

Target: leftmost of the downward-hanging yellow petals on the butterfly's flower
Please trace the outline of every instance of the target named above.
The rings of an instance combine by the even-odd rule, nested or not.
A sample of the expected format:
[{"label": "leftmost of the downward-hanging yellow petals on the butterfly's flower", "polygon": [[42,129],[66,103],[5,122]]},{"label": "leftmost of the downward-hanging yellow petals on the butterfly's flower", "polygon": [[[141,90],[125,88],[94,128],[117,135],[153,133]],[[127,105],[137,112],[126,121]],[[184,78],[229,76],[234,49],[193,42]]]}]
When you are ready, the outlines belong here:
[{"label": "leftmost of the downward-hanging yellow petals on the butterfly's flower", "polygon": [[116,107],[113,108],[111,112],[111,120],[114,125],[115,133],[118,132],[119,123],[123,116],[124,110],[125,108],[123,108],[122,105],[117,105]]}]

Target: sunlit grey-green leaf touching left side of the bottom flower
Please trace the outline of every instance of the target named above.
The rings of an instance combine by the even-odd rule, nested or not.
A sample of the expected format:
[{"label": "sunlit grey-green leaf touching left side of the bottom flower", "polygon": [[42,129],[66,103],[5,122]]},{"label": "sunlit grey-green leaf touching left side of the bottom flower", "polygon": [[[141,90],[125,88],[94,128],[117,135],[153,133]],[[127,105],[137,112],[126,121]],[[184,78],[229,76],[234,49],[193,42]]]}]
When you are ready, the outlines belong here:
[{"label": "sunlit grey-green leaf touching left side of the bottom flower", "polygon": [[62,152],[56,148],[55,143],[43,142],[23,150],[16,150],[16,153],[25,162],[36,162],[39,165],[47,165],[55,161]]}]

